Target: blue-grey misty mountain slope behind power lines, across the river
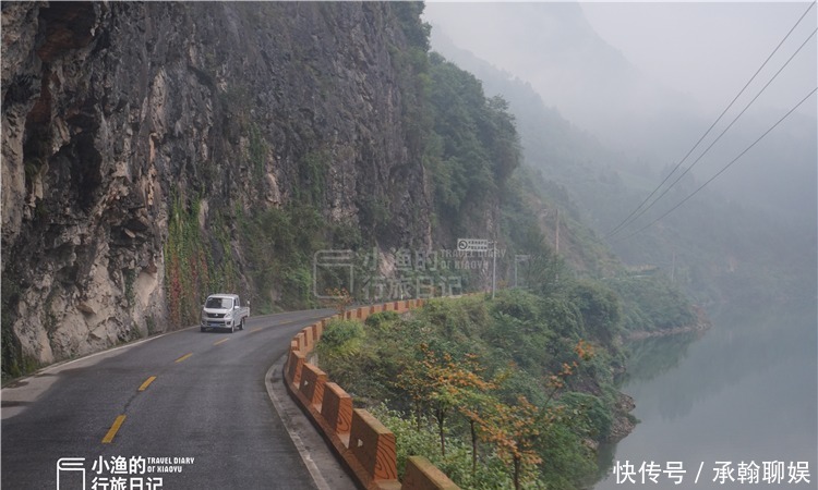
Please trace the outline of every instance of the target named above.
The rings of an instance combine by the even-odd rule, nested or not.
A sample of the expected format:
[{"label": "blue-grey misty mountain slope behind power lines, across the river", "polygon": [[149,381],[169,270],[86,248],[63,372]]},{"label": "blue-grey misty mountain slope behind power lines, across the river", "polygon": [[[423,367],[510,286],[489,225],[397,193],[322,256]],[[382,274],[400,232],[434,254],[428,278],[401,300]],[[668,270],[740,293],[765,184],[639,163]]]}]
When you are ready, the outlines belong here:
[{"label": "blue-grey misty mountain slope behind power lines, across the river", "polygon": [[[526,163],[541,172],[551,199],[579,212],[600,236],[639,206],[678,161],[649,161],[614,150],[549,107],[531,83],[456,47],[440,29],[433,28],[431,41],[435,50],[474,73],[486,95],[508,101]],[[754,148],[757,152],[745,156],[753,156],[749,161],[739,160],[725,172],[730,185],[703,188],[657,225],[630,236],[695,192],[730,161],[727,156],[735,158],[736,148],[745,148],[763,132],[762,123],[768,124],[765,131],[771,124],[769,114],[747,115],[743,131],[726,134],[724,145],[715,145],[695,172],[684,175],[659,205],[610,241],[627,264],[664,269],[699,301],[801,291],[809,295],[815,289],[811,272],[804,273],[814,269],[805,266],[815,262],[816,243],[815,206],[808,206],[815,203],[809,118],[782,123],[785,131],[771,133]],[[706,128],[695,127],[698,136]],[[697,176],[699,170],[706,177]]]}]

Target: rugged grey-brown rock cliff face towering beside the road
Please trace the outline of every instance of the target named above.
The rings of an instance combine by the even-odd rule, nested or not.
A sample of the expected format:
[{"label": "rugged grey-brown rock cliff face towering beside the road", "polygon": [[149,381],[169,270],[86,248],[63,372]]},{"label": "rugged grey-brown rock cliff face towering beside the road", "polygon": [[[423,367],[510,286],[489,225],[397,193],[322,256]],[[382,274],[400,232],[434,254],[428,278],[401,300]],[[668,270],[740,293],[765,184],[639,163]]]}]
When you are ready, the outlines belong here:
[{"label": "rugged grey-brown rock cliff face towering beside the road", "polygon": [[3,2],[4,373],[170,328],[175,203],[205,243],[213,210],[308,189],[328,222],[385,207],[383,248],[431,245],[395,9]]}]

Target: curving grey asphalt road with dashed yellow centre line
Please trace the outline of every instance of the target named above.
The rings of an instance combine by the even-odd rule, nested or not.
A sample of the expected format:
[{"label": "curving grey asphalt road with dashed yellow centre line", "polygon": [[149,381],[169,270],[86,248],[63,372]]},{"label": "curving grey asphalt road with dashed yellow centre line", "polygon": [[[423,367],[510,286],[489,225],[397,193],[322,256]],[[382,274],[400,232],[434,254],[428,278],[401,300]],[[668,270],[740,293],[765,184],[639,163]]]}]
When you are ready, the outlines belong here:
[{"label": "curving grey asphalt road with dashed yellow centre line", "polygon": [[351,488],[337,463],[315,464],[322,441],[280,394],[280,372],[272,379],[292,335],[328,313],[250,318],[236,333],[187,329],[4,388],[2,488]]}]

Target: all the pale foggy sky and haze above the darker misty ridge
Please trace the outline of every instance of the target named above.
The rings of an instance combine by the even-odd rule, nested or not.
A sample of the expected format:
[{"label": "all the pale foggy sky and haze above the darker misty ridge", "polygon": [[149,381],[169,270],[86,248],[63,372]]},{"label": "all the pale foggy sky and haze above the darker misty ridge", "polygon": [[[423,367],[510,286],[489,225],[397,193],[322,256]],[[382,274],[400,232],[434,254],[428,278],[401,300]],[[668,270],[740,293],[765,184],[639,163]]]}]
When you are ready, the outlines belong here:
[{"label": "all the pale foggy sky and haze above the darker misty ridge", "polygon": [[[702,136],[808,5],[428,2],[424,19],[433,26],[433,39],[435,32],[442,33],[456,47],[528,82],[565,119],[610,148],[643,159],[659,173],[677,163]],[[817,24],[818,7],[813,7],[699,150],[745,108]],[[697,164],[693,174],[700,182],[818,85],[816,46],[818,38],[813,36]],[[767,199],[780,209],[813,210],[808,221],[814,223],[816,100],[813,95],[711,187],[749,203]]]}]

